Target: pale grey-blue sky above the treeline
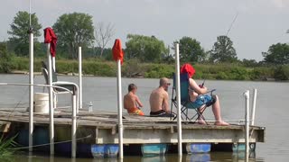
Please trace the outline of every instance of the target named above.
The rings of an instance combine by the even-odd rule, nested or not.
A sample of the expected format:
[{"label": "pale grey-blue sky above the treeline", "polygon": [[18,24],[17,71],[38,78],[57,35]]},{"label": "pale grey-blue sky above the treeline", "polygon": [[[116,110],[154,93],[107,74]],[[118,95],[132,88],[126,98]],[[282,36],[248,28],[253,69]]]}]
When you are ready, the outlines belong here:
[{"label": "pale grey-blue sky above the treeline", "polygon": [[[31,4],[43,29],[61,14],[74,12],[93,16],[95,25],[113,23],[115,35],[107,47],[118,38],[125,48],[126,35],[132,33],[154,35],[171,47],[174,40],[188,36],[210,50],[230,29],[228,37],[238,58],[260,61],[262,51],[272,44],[289,43],[289,0],[31,0]],[[8,40],[18,11],[29,12],[29,0],[1,2],[0,41]]]}]

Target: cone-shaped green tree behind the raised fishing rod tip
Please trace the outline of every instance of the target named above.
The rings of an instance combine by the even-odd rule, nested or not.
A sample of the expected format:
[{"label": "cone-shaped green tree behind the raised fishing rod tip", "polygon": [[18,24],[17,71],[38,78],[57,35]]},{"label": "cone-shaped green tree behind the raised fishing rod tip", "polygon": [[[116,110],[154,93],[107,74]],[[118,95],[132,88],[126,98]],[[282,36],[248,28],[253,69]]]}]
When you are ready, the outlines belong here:
[{"label": "cone-shaped green tree behind the raised fishing rod tip", "polygon": [[217,41],[210,50],[210,61],[232,62],[237,60],[237,53],[233,47],[233,41],[225,35],[217,37]]}]

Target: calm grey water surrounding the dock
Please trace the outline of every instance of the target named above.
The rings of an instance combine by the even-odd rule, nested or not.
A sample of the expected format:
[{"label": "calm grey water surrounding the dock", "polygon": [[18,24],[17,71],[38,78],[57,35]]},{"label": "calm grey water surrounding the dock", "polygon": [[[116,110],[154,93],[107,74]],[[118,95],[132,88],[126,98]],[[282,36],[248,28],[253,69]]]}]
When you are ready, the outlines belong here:
[{"label": "calm grey water surrounding the dock", "polygon": [[[59,76],[59,80],[78,82],[77,76]],[[24,75],[0,75],[0,82],[28,83],[28,76]],[[199,80],[201,82],[201,80]],[[42,76],[35,76],[35,84],[43,84]],[[150,92],[158,86],[158,79],[123,78],[122,91],[127,92],[127,85],[135,83],[138,86],[138,95],[144,103],[144,113],[149,113],[148,98]],[[245,115],[245,100],[243,93],[248,89],[257,89],[256,100],[256,125],[266,127],[266,142],[257,143],[256,161],[287,161],[289,158],[289,83],[277,82],[245,82],[245,81],[206,81],[209,88],[216,88],[215,94],[219,95],[222,118],[225,121],[236,122],[242,120]],[[95,111],[117,112],[117,79],[114,77],[83,77],[83,104],[86,108],[89,102],[93,103]],[[42,88],[35,88],[35,92],[42,92]],[[172,89],[169,90],[172,93]],[[252,94],[252,91],[250,91]],[[251,97],[252,98],[252,97]],[[70,96],[62,94],[60,105],[70,102]],[[0,86],[0,107],[28,105],[27,86]],[[213,119],[212,112],[206,111],[207,119]],[[238,161],[244,155],[233,153],[210,153],[204,155],[211,161]],[[64,157],[45,157],[39,155],[18,156],[17,159],[27,161],[73,161]],[[117,159],[84,159],[80,162],[90,161],[117,161]],[[124,161],[178,161],[176,155],[165,157],[125,157]],[[194,161],[190,155],[184,155],[182,161]]]}]

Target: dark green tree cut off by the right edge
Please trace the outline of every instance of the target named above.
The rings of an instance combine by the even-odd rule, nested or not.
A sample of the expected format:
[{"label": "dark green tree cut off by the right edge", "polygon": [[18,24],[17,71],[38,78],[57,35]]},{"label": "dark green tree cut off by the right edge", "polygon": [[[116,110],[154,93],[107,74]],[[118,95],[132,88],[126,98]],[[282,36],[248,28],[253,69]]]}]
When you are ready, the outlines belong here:
[{"label": "dark green tree cut off by the right edge", "polygon": [[289,45],[277,43],[269,47],[267,52],[262,52],[264,61],[269,64],[289,64]]}]

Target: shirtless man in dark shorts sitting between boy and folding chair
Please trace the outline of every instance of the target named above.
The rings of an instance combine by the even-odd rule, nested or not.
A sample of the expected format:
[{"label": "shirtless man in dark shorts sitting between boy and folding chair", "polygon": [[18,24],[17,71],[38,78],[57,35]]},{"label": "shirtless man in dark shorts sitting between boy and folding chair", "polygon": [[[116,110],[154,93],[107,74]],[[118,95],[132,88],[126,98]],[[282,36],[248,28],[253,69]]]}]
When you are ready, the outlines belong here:
[{"label": "shirtless man in dark shorts sitting between boy and folding chair", "polygon": [[151,112],[150,116],[154,117],[174,117],[169,109],[169,79],[163,77],[160,79],[160,85],[154,89],[150,95]]}]

